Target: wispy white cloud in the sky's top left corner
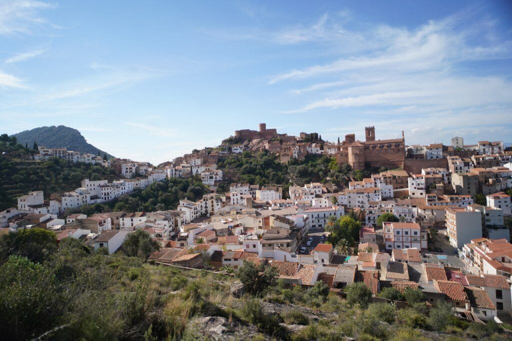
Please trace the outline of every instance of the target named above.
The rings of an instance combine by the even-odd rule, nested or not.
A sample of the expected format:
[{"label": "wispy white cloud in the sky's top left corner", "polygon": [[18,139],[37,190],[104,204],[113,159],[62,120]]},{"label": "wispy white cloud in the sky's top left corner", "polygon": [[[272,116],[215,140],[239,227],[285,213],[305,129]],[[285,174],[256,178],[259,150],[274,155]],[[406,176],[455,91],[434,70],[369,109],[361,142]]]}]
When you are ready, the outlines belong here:
[{"label": "wispy white cloud in the sky's top left corner", "polygon": [[12,0],[0,3],[0,35],[32,34],[35,28],[58,28],[41,16],[41,11],[55,5],[32,0]]}]

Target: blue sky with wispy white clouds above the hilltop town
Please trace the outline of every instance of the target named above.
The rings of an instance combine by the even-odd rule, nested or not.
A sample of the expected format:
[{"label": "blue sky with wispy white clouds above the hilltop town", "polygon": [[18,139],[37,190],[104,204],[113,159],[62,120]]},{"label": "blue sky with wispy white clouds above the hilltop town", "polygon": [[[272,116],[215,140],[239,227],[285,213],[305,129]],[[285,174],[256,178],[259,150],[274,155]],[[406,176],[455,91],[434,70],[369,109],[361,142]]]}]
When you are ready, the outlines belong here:
[{"label": "blue sky with wispy white clouds above the hilltop town", "polygon": [[0,0],[0,133],[154,164],[279,132],[512,142],[512,2]]}]

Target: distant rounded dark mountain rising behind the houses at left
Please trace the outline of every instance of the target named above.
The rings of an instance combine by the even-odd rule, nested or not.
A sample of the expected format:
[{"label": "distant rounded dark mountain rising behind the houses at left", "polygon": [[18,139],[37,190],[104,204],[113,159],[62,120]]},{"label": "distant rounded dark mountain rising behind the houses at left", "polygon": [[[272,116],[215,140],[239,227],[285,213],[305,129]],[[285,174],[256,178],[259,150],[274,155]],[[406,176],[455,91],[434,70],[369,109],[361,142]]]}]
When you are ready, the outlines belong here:
[{"label": "distant rounded dark mountain rising behind the houses at left", "polygon": [[100,152],[101,156],[105,153],[107,157],[113,157],[109,153],[87,143],[87,140],[78,130],[63,125],[34,128],[18,132],[12,136],[16,137],[18,143],[22,145],[28,144],[29,147],[32,147],[35,142],[38,146],[48,148],[67,148],[68,150],[95,155]]}]

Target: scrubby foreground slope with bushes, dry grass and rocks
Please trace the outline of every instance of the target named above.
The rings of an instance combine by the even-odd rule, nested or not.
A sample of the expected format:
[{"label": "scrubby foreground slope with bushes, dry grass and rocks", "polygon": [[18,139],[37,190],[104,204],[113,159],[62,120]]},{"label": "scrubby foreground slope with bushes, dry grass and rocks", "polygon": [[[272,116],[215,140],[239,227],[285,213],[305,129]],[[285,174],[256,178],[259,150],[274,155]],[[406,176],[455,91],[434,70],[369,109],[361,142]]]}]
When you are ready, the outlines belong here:
[{"label": "scrubby foreground slope with bushes, dry grass and rocks", "polygon": [[[146,234],[146,236],[144,236]],[[150,239],[141,231],[140,238]],[[126,243],[126,242],[125,242]],[[428,308],[419,290],[386,292],[397,309],[372,303],[362,283],[346,299],[322,282],[288,287],[268,265],[235,277],[106,256],[52,232],[0,237],[0,331],[4,339],[101,340],[505,340],[496,323],[470,323],[444,302]],[[207,256],[204,256],[207,261]],[[233,288],[237,288],[233,290]],[[395,290],[396,291],[396,290]]]}]

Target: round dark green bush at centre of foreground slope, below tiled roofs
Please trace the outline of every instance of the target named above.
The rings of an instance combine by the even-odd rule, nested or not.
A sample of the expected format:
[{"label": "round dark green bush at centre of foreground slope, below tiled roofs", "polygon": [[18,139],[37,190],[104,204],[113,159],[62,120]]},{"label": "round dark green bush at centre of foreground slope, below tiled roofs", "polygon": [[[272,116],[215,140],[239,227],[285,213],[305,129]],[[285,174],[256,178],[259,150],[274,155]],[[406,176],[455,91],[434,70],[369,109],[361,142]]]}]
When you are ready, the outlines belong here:
[{"label": "round dark green bush at centre of foreground slope, below tiled roofs", "polygon": [[261,296],[268,288],[275,285],[278,271],[273,266],[263,263],[257,267],[252,262],[245,262],[238,269],[237,276],[242,282],[245,292]]}]

